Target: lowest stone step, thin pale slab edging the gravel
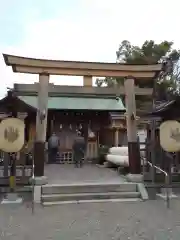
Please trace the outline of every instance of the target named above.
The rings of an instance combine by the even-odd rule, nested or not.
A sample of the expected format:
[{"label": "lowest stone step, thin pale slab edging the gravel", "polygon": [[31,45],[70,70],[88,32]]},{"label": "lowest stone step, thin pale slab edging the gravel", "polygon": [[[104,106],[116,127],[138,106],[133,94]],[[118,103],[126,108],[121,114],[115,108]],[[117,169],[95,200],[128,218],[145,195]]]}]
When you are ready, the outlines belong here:
[{"label": "lowest stone step, thin pale slab edging the gravel", "polygon": [[140,198],[121,198],[121,199],[93,199],[93,200],[79,200],[79,201],[56,201],[56,202],[42,202],[44,207],[48,206],[56,206],[63,204],[80,204],[80,203],[106,203],[106,202],[140,202],[142,199]]}]

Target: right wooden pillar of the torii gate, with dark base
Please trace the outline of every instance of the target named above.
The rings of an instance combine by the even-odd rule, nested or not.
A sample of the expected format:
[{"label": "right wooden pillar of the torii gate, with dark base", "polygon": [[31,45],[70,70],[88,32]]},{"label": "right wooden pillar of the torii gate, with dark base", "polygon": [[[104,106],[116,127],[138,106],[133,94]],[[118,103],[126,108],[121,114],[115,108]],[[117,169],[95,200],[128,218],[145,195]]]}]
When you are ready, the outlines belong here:
[{"label": "right wooden pillar of the torii gate, with dark base", "polygon": [[129,169],[131,174],[141,173],[140,150],[137,141],[136,126],[136,101],[134,79],[127,77],[124,81],[125,103],[126,103],[126,124],[129,152]]}]

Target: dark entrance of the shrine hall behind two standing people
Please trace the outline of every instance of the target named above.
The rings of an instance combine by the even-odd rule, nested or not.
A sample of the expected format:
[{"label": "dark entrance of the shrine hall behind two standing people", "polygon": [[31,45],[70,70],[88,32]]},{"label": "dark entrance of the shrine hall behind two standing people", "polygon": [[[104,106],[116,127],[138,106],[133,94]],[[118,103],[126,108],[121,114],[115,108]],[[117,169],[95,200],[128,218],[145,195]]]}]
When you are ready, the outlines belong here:
[{"label": "dark entrance of the shrine hall behind two standing people", "polygon": [[[82,99],[83,100],[83,99]],[[103,101],[103,99],[96,99]],[[90,101],[90,100],[89,100]],[[116,101],[116,100],[114,100]],[[71,106],[72,107],[72,106]],[[78,108],[78,106],[75,106]],[[123,113],[123,109],[119,109],[118,114]],[[109,111],[94,111],[93,109],[83,110],[58,110],[50,111],[48,116],[48,138],[52,133],[56,133],[59,137],[60,145],[55,163],[72,164],[73,162],[73,143],[80,131],[86,143],[86,152],[84,156],[85,162],[92,162],[98,158],[98,148],[102,144],[99,141],[101,132],[109,132],[103,127],[111,126],[111,116]],[[114,139],[111,139],[111,144]],[[48,160],[50,162],[50,159]]]}]

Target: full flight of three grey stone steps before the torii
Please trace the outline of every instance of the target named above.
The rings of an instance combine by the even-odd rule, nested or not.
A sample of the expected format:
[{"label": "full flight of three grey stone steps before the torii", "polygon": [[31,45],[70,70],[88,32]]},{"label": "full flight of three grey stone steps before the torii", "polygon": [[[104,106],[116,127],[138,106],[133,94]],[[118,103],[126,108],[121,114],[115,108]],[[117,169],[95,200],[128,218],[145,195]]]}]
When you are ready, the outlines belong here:
[{"label": "full flight of three grey stone steps before the torii", "polygon": [[44,206],[85,202],[141,201],[136,183],[86,183],[68,185],[44,185],[41,189]]}]

